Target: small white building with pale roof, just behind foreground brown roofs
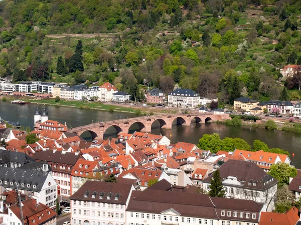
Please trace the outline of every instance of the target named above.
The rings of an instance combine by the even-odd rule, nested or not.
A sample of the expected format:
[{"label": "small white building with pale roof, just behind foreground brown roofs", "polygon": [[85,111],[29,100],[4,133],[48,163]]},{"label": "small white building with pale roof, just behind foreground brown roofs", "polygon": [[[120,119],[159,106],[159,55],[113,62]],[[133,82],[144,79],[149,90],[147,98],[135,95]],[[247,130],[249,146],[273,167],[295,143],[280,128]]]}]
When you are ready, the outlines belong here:
[{"label": "small white building with pale roof, just behind foreground brown roofs", "polygon": [[166,179],[168,182],[178,186],[191,185],[192,181],[189,176],[182,169],[168,168],[166,165],[162,166],[162,174],[158,180]]}]

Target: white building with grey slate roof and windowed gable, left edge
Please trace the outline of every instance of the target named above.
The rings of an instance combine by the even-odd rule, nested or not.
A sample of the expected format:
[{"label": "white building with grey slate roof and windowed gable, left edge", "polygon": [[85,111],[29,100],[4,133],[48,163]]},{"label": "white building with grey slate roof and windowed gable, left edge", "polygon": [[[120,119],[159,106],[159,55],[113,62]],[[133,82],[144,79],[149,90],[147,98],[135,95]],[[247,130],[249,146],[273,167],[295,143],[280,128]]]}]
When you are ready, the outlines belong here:
[{"label": "white building with grey slate roof and windowed gable, left edge", "polygon": [[[25,167],[25,166],[28,166]],[[56,207],[57,184],[48,165],[43,170],[33,170],[30,164],[18,168],[2,167],[0,169],[0,190],[15,190],[18,186],[21,193],[33,197],[37,203],[43,203],[50,208]]]}]

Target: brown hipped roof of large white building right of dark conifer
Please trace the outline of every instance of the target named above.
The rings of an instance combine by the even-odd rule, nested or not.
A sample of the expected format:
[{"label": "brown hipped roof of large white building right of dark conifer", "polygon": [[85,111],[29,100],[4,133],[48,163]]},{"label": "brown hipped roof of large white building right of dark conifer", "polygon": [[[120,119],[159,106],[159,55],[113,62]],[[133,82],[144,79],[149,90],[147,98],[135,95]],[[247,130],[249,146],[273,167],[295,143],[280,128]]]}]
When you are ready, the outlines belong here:
[{"label": "brown hipped roof of large white building right of dark conifer", "polygon": [[[205,178],[203,182],[210,183],[212,176],[213,174]],[[233,159],[229,159],[220,167],[220,176],[222,180],[229,176],[237,177],[237,180],[240,181],[245,188],[255,190],[265,190],[278,182],[254,162]],[[253,183],[255,183],[255,186]]]}]

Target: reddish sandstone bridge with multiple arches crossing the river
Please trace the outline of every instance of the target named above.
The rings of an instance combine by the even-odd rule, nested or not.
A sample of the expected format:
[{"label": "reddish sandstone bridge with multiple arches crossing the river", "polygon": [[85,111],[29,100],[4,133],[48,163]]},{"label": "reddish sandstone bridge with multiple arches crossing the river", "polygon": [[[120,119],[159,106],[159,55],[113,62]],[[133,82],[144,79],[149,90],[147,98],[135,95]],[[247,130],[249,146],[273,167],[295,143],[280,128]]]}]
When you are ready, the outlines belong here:
[{"label": "reddish sandstone bridge with multiple arches crossing the river", "polygon": [[230,119],[228,114],[196,113],[170,114],[160,116],[155,115],[129,119],[119,119],[114,121],[96,122],[85,126],[71,128],[68,130],[68,132],[81,135],[83,132],[88,131],[91,134],[92,139],[98,137],[99,140],[103,140],[105,131],[110,127],[114,127],[117,134],[121,132],[128,133],[130,126],[136,123],[139,126],[139,130],[141,132],[150,133],[152,131],[152,125],[155,121],[159,121],[160,128],[171,129],[175,120],[177,121],[177,125],[190,126],[191,123],[205,123],[210,120],[217,121],[225,119]]}]

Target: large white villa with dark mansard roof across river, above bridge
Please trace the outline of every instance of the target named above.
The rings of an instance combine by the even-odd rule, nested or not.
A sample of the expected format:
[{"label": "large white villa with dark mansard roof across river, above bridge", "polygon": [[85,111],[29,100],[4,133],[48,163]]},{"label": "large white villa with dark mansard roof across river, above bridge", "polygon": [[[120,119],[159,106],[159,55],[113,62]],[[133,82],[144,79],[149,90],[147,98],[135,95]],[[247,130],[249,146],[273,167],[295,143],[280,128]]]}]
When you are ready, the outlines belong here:
[{"label": "large white villa with dark mansard roof across river, above bridge", "polygon": [[200,96],[191,89],[176,89],[168,94],[168,105],[181,108],[196,108],[200,105]]}]

